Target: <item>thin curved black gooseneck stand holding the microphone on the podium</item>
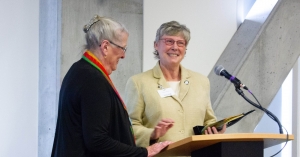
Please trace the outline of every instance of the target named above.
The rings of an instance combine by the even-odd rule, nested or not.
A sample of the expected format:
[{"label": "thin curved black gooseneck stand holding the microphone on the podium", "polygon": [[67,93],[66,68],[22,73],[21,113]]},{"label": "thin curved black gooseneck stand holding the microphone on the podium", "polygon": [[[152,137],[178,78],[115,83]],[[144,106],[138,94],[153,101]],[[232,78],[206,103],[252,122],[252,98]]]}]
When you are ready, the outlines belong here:
[{"label": "thin curved black gooseneck stand holding the microphone on the podium", "polygon": [[[264,111],[271,119],[273,119],[279,126],[279,132],[280,134],[283,134],[283,131],[282,131],[282,125],[280,123],[280,121],[278,120],[278,118],[272,113],[270,112],[269,110],[265,109],[264,107],[262,107],[261,105],[257,105],[255,104],[254,102],[252,102],[250,99],[248,99],[245,95],[244,95],[244,92],[240,89],[240,86],[239,85],[235,85],[235,91],[240,95],[242,96],[248,103],[250,103],[251,105],[253,105],[254,107]],[[249,91],[249,90],[248,90]]]}]

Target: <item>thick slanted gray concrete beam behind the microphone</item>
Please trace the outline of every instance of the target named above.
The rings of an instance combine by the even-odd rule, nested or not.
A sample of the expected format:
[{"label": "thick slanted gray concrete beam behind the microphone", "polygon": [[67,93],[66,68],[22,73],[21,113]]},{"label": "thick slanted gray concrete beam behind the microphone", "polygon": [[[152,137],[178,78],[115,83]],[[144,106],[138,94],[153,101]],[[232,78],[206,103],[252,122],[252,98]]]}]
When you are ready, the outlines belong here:
[{"label": "thick slanted gray concrete beam behind the microphone", "polygon": [[[298,8],[300,1],[278,1],[263,24],[246,20],[216,63],[223,64],[227,71],[238,76],[265,108],[275,97],[300,54]],[[211,95],[213,108],[219,117],[254,108],[236,93],[225,78],[220,78],[212,71],[209,79],[215,82],[211,86]],[[243,120],[244,123],[234,125],[228,132],[253,132],[263,114],[261,111],[251,114]]]}]

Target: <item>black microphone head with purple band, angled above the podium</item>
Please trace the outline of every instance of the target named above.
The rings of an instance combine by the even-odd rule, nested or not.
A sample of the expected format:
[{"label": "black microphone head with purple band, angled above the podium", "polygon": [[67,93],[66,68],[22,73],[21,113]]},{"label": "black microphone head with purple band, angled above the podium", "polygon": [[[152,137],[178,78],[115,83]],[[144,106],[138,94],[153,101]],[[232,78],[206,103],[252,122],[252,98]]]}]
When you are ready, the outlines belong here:
[{"label": "black microphone head with purple band, angled above the podium", "polygon": [[242,88],[248,90],[248,88],[244,84],[242,84],[242,82],[238,78],[230,75],[222,65],[218,65],[215,67],[215,74],[217,74],[219,76],[224,76],[225,78],[230,80],[230,82],[232,82],[236,88],[242,87]]}]

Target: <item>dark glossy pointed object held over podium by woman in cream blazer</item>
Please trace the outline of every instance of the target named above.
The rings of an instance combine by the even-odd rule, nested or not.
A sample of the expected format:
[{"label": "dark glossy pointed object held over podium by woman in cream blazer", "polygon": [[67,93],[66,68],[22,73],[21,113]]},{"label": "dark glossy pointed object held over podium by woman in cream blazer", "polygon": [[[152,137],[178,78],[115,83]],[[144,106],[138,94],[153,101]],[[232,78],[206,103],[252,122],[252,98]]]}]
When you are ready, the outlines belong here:
[{"label": "dark glossy pointed object held over podium by woman in cream blazer", "polygon": [[238,121],[240,121],[242,118],[244,118],[248,114],[252,113],[253,111],[255,111],[255,110],[251,110],[251,111],[246,112],[246,113],[242,113],[242,114],[239,114],[239,115],[235,115],[235,116],[231,116],[231,117],[228,117],[228,118],[224,118],[224,119],[222,119],[220,121],[208,124],[206,126],[195,126],[193,128],[194,129],[194,133],[195,133],[195,135],[204,135],[205,134],[205,130],[208,127],[216,127],[216,129],[218,131],[220,131],[220,130],[222,130],[223,125],[226,125],[226,127],[228,128],[228,127],[234,125],[235,123],[237,123]]}]

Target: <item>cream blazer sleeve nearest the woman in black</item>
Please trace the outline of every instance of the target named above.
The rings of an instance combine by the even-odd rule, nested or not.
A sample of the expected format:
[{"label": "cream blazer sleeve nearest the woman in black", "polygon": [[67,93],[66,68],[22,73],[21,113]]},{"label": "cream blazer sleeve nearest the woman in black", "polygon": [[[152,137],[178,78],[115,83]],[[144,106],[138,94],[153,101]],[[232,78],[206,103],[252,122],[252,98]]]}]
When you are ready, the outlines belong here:
[{"label": "cream blazer sleeve nearest the woman in black", "polygon": [[134,77],[129,78],[126,83],[125,104],[127,105],[128,114],[132,121],[137,146],[149,146],[150,135],[154,129],[143,126],[145,102],[141,94],[141,89],[137,85]]}]

